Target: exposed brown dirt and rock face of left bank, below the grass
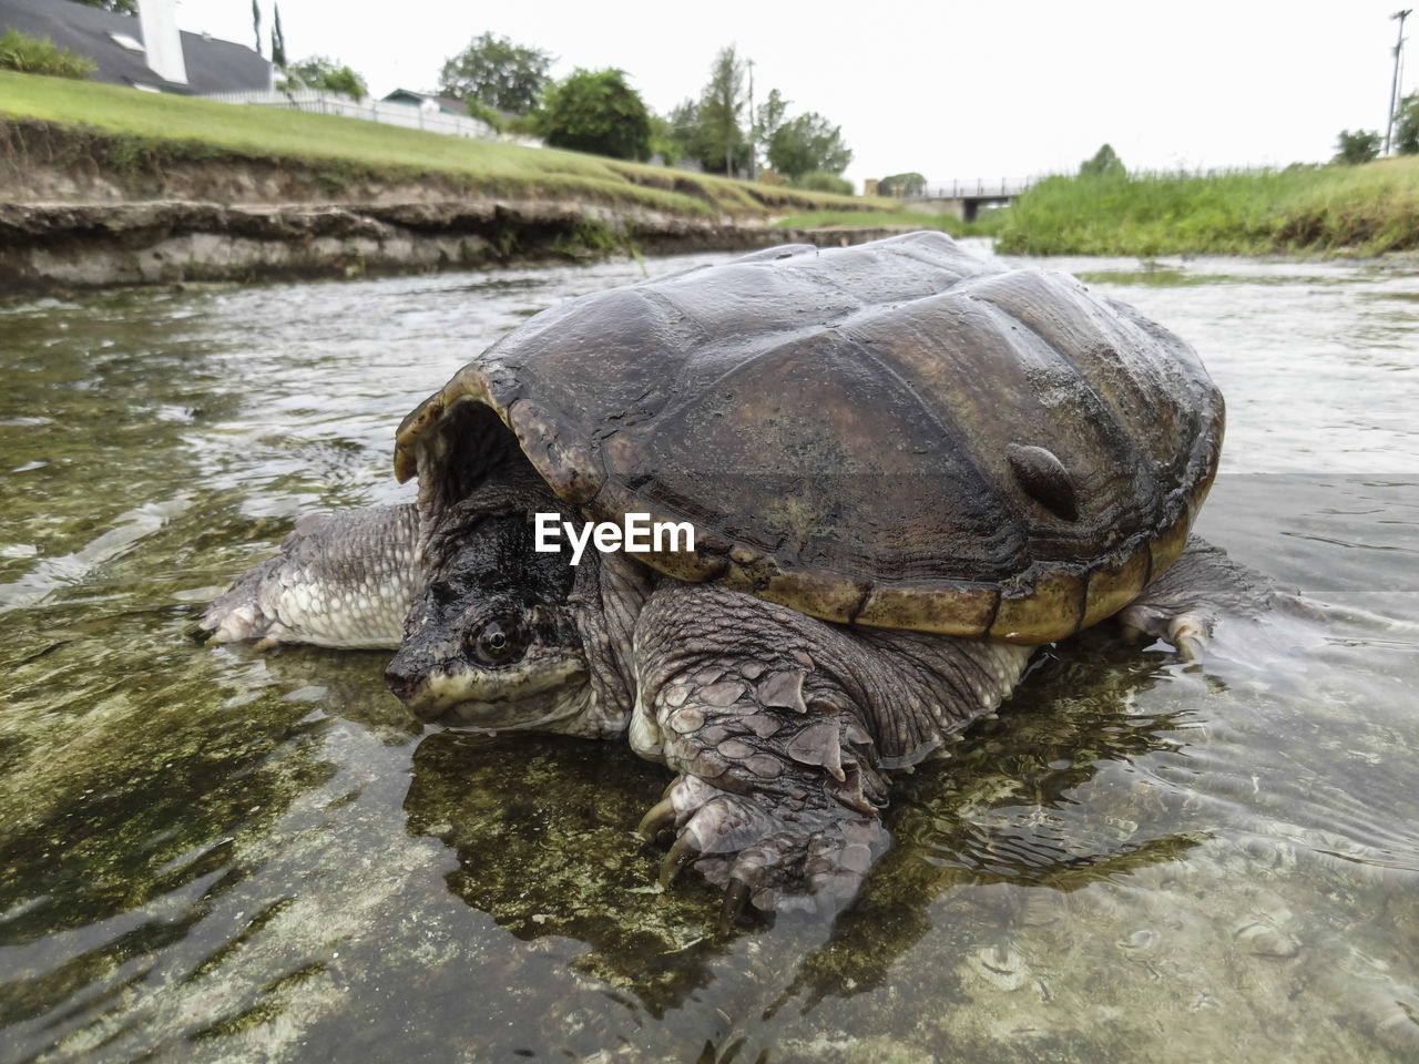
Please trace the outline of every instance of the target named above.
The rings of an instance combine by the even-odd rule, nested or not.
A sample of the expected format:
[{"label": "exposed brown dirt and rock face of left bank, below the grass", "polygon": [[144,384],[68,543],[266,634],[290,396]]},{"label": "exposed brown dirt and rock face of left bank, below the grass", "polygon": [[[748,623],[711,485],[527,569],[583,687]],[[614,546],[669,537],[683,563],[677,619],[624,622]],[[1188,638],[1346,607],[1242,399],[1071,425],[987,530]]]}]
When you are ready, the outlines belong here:
[{"label": "exposed brown dirt and rock face of left bank, below the grass", "polygon": [[[673,186],[674,173],[666,180]],[[614,197],[490,194],[448,174],[392,182],[291,160],[184,157],[0,123],[0,294],[846,244],[885,231],[783,230],[763,214],[677,213]]]}]

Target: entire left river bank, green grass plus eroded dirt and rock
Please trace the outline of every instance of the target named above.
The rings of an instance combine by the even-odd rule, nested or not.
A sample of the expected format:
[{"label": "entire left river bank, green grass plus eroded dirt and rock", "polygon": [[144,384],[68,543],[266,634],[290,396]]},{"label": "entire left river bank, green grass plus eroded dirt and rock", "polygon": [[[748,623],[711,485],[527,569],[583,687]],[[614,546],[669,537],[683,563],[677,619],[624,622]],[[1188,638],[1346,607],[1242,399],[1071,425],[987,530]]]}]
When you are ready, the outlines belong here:
[{"label": "entire left river bank, green grass plus eroded dirt and rock", "polygon": [[0,292],[267,281],[788,241],[888,201],[0,72]]}]

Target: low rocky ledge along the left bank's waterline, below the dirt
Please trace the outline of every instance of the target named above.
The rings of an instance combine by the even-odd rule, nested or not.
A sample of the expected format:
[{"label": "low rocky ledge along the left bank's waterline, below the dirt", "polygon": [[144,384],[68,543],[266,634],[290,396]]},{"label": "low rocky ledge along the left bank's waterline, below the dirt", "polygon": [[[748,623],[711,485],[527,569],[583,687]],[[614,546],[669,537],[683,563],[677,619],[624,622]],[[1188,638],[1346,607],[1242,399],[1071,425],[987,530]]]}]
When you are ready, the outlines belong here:
[{"label": "low rocky ledge along the left bank's waterline, below the dirt", "polygon": [[0,203],[0,295],[339,278],[626,254],[857,244],[891,227],[772,228],[582,201]]}]

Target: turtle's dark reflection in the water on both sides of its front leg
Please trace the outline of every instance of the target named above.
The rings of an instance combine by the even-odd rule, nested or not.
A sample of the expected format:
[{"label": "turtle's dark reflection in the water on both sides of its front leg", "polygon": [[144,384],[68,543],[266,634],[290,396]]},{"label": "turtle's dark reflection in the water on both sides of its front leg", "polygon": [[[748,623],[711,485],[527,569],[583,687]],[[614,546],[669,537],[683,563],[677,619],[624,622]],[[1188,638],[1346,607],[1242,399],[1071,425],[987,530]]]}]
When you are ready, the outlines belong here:
[{"label": "turtle's dark reflection in the water on both sides of its front leg", "polygon": [[[1135,718],[1127,708],[1134,685],[1152,684],[1162,655],[1147,661],[1098,637],[1080,653],[1077,667],[1053,663],[1036,681],[1069,674],[1090,692],[1083,705],[1067,705],[1080,701],[1069,695],[1061,705],[1054,681],[1032,681],[1007,719],[985,722],[949,762],[902,779],[890,814],[894,846],[884,867],[891,871],[873,877],[858,914],[840,928],[844,938],[832,953],[841,955],[849,942],[851,963],[823,969],[823,979],[836,972],[833,993],[880,985],[931,926],[928,907],[958,885],[1073,891],[1181,860],[1200,841],[1191,833],[1154,834],[1165,823],[1158,794],[1148,796],[1148,807],[1127,810],[1134,820],[1114,816],[1103,827],[1070,830],[1060,810],[1101,763],[1181,745],[1171,716]],[[1117,658],[1115,670],[1108,672],[1100,657]],[[448,877],[455,895],[519,938],[585,942],[592,952],[579,958],[580,970],[661,1014],[702,986],[698,958],[724,952],[707,935],[717,892],[694,877],[661,892],[654,882],[660,854],[627,830],[663,785],[619,743],[448,731],[420,743],[404,809],[410,831],[457,853],[460,868]],[[898,939],[887,928],[911,933]],[[805,975],[817,968],[809,958]]]}]

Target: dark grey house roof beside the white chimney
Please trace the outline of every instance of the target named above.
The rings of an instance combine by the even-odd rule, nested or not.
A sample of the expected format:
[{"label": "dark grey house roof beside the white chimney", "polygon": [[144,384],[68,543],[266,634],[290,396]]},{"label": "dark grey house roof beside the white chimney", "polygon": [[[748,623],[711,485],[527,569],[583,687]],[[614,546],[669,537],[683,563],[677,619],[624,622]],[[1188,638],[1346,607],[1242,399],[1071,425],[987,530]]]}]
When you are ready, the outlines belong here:
[{"label": "dark grey house roof beside the white chimney", "polygon": [[219,41],[182,31],[187,84],[163,81],[142,51],[126,48],[112,34],[143,40],[138,18],[71,0],[0,0],[0,31],[14,28],[48,37],[60,48],[87,55],[98,64],[94,81],[114,85],[152,85],[165,92],[206,94],[270,89],[271,64],[244,44]]}]

